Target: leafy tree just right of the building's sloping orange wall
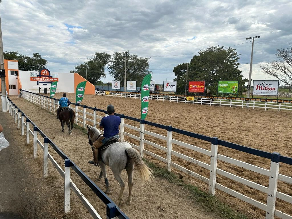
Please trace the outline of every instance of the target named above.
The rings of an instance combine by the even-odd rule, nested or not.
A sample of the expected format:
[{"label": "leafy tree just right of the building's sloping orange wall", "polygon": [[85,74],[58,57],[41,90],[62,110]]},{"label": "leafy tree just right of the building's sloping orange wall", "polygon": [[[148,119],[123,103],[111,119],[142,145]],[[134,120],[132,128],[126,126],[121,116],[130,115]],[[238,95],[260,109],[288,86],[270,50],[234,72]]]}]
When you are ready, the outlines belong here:
[{"label": "leafy tree just right of the building's sloping orange wall", "polygon": [[94,56],[88,58],[87,62],[76,66],[75,70],[70,71],[70,73],[78,73],[86,78],[87,72],[87,80],[91,84],[97,85],[100,78],[105,77],[105,66],[108,64],[110,57],[107,53],[95,53]]}]

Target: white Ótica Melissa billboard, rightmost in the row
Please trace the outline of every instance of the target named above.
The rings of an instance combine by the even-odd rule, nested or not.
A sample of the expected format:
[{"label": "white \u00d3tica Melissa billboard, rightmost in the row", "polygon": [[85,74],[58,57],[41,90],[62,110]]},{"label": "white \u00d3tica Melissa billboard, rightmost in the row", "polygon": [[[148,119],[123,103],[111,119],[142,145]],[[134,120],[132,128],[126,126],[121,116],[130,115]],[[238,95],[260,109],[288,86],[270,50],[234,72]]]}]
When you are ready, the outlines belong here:
[{"label": "white \u00d3tica Melissa billboard, rightmost in the row", "polygon": [[279,81],[253,81],[253,95],[278,96]]}]

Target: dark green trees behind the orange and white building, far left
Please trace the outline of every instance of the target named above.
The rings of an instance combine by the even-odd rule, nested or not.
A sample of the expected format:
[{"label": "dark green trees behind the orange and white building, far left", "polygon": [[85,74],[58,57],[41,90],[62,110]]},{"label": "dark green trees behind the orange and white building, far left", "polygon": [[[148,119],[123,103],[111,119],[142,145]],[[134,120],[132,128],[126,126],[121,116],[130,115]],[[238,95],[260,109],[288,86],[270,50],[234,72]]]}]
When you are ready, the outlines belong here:
[{"label": "dark green trees behind the orange and white building, far left", "polygon": [[33,53],[33,57],[30,57],[16,51],[5,51],[4,59],[18,60],[18,69],[21,71],[39,71],[48,64],[48,61],[41,58],[39,53]]}]

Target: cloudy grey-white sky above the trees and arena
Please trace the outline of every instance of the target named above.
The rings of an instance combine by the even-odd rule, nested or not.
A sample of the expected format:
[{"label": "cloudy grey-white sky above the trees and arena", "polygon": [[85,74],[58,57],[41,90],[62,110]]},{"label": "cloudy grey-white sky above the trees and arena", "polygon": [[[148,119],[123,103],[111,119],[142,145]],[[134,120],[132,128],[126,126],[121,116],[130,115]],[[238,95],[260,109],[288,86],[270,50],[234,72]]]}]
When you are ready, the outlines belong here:
[{"label": "cloudy grey-white sky above the trees and arena", "polygon": [[[52,73],[69,72],[95,52],[130,51],[150,58],[156,83],[173,80],[173,67],[209,46],[235,48],[244,78],[254,43],[253,80],[268,80],[258,62],[277,60],[292,44],[292,2],[209,0],[2,0],[4,51],[48,60]],[[101,79],[109,82],[112,77]]]}]

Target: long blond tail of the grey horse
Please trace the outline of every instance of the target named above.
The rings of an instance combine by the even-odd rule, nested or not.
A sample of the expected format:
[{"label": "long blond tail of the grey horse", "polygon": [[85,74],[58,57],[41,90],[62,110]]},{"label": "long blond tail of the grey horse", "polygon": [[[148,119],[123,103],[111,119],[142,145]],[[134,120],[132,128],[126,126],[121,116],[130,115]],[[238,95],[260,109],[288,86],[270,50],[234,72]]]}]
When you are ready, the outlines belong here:
[{"label": "long blond tail of the grey horse", "polygon": [[142,183],[154,180],[153,171],[144,163],[139,152],[133,147],[126,147],[129,158],[134,161],[135,168],[138,170]]}]

